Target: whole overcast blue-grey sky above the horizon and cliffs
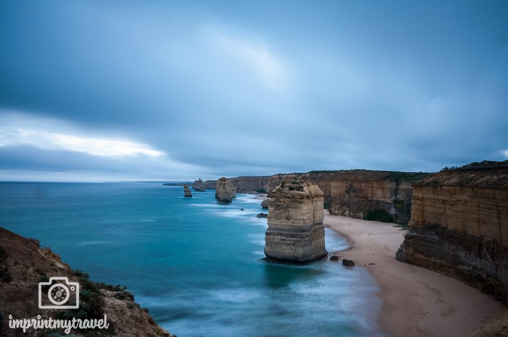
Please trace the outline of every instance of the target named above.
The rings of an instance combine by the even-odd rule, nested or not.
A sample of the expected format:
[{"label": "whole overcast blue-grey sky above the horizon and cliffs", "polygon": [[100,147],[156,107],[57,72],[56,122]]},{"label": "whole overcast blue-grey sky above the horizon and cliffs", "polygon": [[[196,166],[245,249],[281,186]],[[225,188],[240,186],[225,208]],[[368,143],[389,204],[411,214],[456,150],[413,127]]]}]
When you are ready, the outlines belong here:
[{"label": "whole overcast blue-grey sky above the horizon and cliffs", "polygon": [[0,180],[508,159],[508,2],[2,1]]}]

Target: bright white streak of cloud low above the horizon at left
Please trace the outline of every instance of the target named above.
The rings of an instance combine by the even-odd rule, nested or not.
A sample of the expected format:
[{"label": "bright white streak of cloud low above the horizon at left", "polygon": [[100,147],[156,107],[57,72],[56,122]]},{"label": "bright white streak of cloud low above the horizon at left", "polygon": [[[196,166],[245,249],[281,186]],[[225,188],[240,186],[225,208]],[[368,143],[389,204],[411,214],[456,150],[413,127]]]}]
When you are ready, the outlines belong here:
[{"label": "bright white streak of cloud low above the horizon at left", "polygon": [[[8,118],[12,119],[12,118]],[[12,123],[0,119],[0,146],[31,146],[44,150],[68,150],[85,152],[97,156],[164,156],[164,152],[150,146],[132,141],[99,138],[75,134],[74,132],[58,132],[44,129],[43,124],[26,125]],[[29,122],[28,122],[29,124]]]}]

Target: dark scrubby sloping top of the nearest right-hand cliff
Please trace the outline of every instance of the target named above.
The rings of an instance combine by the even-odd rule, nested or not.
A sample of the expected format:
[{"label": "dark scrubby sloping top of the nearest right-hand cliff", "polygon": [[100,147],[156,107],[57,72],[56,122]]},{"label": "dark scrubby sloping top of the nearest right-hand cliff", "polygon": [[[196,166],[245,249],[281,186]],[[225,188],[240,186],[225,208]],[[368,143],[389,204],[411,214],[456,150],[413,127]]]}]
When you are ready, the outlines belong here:
[{"label": "dark scrubby sloping top of the nearest right-hand cliff", "polygon": [[[470,165],[470,164],[469,164]],[[415,186],[471,186],[482,188],[508,189],[508,166],[468,166],[443,170],[415,183]],[[488,168],[488,169],[487,169]]]}]

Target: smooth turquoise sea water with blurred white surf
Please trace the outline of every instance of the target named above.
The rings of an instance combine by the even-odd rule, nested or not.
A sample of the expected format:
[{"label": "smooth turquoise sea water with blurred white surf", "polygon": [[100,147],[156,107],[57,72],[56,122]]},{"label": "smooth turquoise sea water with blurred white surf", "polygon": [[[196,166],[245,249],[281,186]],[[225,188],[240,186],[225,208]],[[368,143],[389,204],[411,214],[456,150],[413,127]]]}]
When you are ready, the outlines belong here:
[{"label": "smooth turquoise sea water with blurred white surf", "polygon": [[[380,336],[365,268],[262,260],[261,200],[160,184],[0,183],[0,226],[50,246],[92,280],[127,286],[179,337]],[[243,208],[245,211],[240,211]],[[329,252],[347,247],[326,230]]]}]

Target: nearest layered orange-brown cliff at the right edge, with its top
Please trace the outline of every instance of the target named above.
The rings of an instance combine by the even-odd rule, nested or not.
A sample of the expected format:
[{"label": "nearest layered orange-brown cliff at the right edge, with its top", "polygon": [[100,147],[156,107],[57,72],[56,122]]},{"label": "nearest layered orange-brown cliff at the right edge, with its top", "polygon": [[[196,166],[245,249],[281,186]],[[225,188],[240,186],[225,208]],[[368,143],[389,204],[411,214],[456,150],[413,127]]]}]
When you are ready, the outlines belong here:
[{"label": "nearest layered orange-brown cliff at the right edge, with its top", "polygon": [[508,167],[442,171],[416,183],[396,257],[508,302]]}]

